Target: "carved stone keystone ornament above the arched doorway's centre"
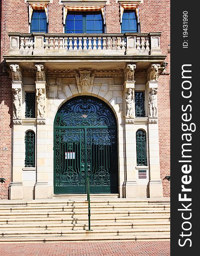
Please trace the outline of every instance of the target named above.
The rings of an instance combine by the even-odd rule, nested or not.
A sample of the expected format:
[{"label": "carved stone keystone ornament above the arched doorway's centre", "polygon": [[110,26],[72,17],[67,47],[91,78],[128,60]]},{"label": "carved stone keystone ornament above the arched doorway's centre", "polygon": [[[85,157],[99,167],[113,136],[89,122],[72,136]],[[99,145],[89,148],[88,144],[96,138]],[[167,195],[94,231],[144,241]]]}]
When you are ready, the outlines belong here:
[{"label": "carved stone keystone ornament above the arched doorway's centre", "polygon": [[90,70],[80,70],[80,77],[78,75],[78,73],[76,73],[75,77],[76,77],[76,81],[77,81],[77,85],[81,86],[81,90],[82,92],[88,92],[89,90],[89,86],[93,85],[94,83],[94,73],[91,74]]}]

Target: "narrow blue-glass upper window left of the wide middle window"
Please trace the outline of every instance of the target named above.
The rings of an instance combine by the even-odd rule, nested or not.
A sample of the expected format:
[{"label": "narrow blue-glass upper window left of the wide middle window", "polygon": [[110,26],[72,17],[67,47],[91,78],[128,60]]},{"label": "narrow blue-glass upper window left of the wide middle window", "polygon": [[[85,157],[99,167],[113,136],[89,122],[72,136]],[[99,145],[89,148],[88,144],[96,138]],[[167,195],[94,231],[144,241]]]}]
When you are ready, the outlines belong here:
[{"label": "narrow blue-glass upper window left of the wide middle window", "polygon": [[31,17],[31,33],[32,32],[47,33],[47,20],[45,10],[33,10]]}]

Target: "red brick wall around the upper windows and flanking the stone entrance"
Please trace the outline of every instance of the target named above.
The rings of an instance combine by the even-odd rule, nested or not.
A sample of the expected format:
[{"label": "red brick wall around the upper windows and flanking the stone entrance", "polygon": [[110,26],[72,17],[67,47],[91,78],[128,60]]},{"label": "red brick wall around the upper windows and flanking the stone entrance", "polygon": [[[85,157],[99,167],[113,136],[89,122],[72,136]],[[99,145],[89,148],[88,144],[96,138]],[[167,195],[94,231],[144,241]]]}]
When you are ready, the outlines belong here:
[{"label": "red brick wall around the upper windows and flanking the stone entrance", "polygon": [[[8,53],[8,32],[29,32],[28,4],[24,0],[2,0],[1,18],[1,63],[3,55]],[[120,32],[119,3],[110,0],[106,6],[106,32]],[[164,196],[170,195],[170,181],[164,180],[170,174],[170,56],[168,45],[170,44],[170,0],[144,0],[140,8],[141,33],[162,32],[160,45],[162,54],[168,55],[165,75],[159,77],[158,113],[159,113],[159,143],[160,143],[160,172],[163,181]],[[63,9],[59,0],[54,0],[49,5],[49,33],[63,33]],[[8,185],[11,174],[11,116],[12,116],[12,93],[11,82],[6,73],[0,70],[0,177],[6,178],[6,184],[0,184],[0,198],[7,198]],[[8,151],[2,151],[3,146]],[[3,189],[3,190],[2,190]]]}]

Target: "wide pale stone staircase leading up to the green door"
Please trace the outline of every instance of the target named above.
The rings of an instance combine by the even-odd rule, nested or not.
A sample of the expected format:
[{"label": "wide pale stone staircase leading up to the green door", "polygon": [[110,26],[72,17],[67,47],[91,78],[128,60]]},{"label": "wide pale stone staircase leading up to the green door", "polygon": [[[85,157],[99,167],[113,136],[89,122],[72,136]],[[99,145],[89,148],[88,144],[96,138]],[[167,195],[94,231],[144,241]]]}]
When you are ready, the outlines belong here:
[{"label": "wide pale stone staircase leading up to the green door", "polygon": [[0,243],[169,241],[169,198],[0,201]]}]

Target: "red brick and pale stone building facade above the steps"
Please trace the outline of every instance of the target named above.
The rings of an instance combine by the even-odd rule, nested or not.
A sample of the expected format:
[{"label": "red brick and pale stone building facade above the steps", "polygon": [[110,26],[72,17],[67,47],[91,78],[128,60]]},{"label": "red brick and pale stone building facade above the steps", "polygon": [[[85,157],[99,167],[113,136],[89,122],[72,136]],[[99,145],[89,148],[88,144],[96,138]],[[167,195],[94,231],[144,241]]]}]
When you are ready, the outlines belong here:
[{"label": "red brick and pale stone building facade above the steps", "polygon": [[[39,9],[38,12],[37,9]],[[123,13],[122,9],[124,9]],[[40,11],[46,15],[47,31],[46,33],[43,31],[32,33],[32,15],[40,13]],[[66,16],[65,13],[67,13]],[[89,26],[87,25],[90,21],[88,17],[91,16],[91,13],[94,14],[94,20],[96,14],[100,15],[103,24],[102,33],[93,32],[92,34],[87,30],[76,33],[76,25],[71,25],[74,26],[73,34],[65,33],[69,24],[69,15],[74,15],[73,22],[76,24],[75,15],[77,13],[83,17],[81,22],[86,20],[84,21],[86,26]],[[85,15],[86,13],[89,16]],[[128,13],[129,17],[132,15],[130,13],[134,13],[135,19],[129,18],[129,29],[131,31],[131,22],[136,22],[137,32],[124,33],[122,31],[125,13]],[[101,170],[102,176],[95,173],[98,176],[98,183],[95,183],[95,175],[93,175],[94,193],[106,194],[108,192],[119,194],[120,197],[170,196],[170,181],[165,178],[170,175],[169,15],[169,0],[160,2],[155,0],[18,0],[17,2],[2,0],[0,177],[5,178],[6,182],[0,184],[1,199],[51,198],[54,194],[59,193],[84,193],[82,187],[85,186],[86,175],[89,174],[90,178],[92,177],[90,168],[94,169],[95,163],[98,161],[98,173]],[[97,24],[94,20],[92,22]],[[66,24],[63,25],[63,23]],[[126,68],[129,64],[134,69],[130,73],[133,77],[126,79]],[[154,64],[158,67],[158,78],[151,78],[150,73]],[[20,78],[15,78],[10,65],[19,66]],[[38,71],[40,72],[38,73],[39,78],[35,65],[43,65],[40,67],[44,68]],[[45,78],[40,79],[40,74],[43,74]],[[87,76],[86,88],[82,82],[84,74]],[[131,107],[132,115],[127,116],[126,93],[129,88],[132,89],[134,103]],[[153,114],[153,116],[149,113],[148,108],[148,97],[152,88],[157,90],[157,114]],[[19,116],[16,115],[16,98],[13,96],[15,89],[21,93],[21,104],[20,107],[18,106]],[[41,102],[38,103],[36,100],[39,89],[42,89],[42,94],[45,96],[44,115],[38,110],[41,107],[39,106]],[[26,114],[28,93],[35,93],[35,116],[31,118]],[[135,97],[139,95],[137,93],[143,93],[140,95],[144,96],[143,116],[137,116],[136,113]],[[73,147],[75,147],[76,144],[75,139],[72,144],[67,144],[69,137],[72,137],[73,134],[73,131],[69,130],[70,126],[63,128],[67,131],[68,137],[65,139],[62,137],[65,140],[65,145],[61,143],[62,139],[59,137],[60,148],[56,151],[57,127],[54,120],[62,111],[66,111],[70,104],[75,104],[76,99],[91,100],[92,105],[99,103],[101,108],[105,108],[108,115],[115,116],[113,118],[116,119],[117,135],[113,144],[116,145],[116,155],[113,153],[115,146],[113,145],[113,149],[110,149],[112,143],[107,145],[105,142],[105,140],[111,140],[111,137],[104,137],[103,144],[100,142],[95,144],[92,143],[94,141],[93,134],[89,144],[86,142],[89,140],[88,135],[86,138],[84,137],[87,144],[84,144],[85,156],[82,157],[84,160],[81,158],[83,151],[80,150],[80,155],[78,155],[75,148],[73,148],[74,156],[70,158],[68,153],[73,153],[70,145],[74,143]],[[81,104],[84,105],[83,102]],[[38,115],[37,110],[40,112]],[[76,125],[74,124],[74,126]],[[104,128],[102,125],[100,126],[104,130],[98,132],[102,134],[108,125]],[[59,126],[59,129],[61,128]],[[94,131],[92,128],[88,131],[88,126],[84,126],[83,123],[81,128],[86,131],[86,134]],[[97,131],[97,125],[94,128]],[[59,134],[61,134],[61,130],[59,130]],[[28,140],[26,137],[28,131],[34,134],[34,154],[29,156],[34,158],[32,164],[27,162],[28,144],[25,140]],[[80,129],[78,131],[81,133]],[[141,148],[137,148],[139,142],[136,142],[137,131],[141,131],[141,134],[146,136],[146,149],[144,149],[146,163],[140,163],[137,160],[139,156],[141,157],[138,152]],[[78,139],[80,147],[82,146],[81,136]],[[89,145],[91,145],[90,149],[88,149]],[[100,150],[100,146],[104,153]],[[62,147],[64,148],[62,149]],[[108,154],[107,150],[111,150],[109,152],[112,152],[112,156],[117,157],[112,171],[109,167],[106,169],[103,166],[112,165],[107,159],[108,157],[105,157]],[[98,157],[95,158],[93,151],[98,154]],[[67,154],[58,159],[57,154],[61,153]],[[90,160],[88,156],[91,156]],[[81,160],[76,162],[78,157]],[[100,163],[102,157],[104,160],[101,160]],[[55,167],[58,165],[60,167]],[[67,165],[69,169],[61,171],[63,165]],[[60,168],[59,175],[57,175],[58,169],[56,168]],[[79,180],[80,183],[73,180],[72,185],[70,182],[73,175],[70,176],[69,170],[74,172],[74,169],[76,169],[74,175],[79,173],[79,179],[81,171],[83,180]],[[102,174],[103,172],[104,174]],[[102,177],[105,179],[105,173],[109,173],[109,180],[102,182],[101,179]],[[58,176],[59,178],[57,178]],[[114,178],[111,180],[112,176],[118,177],[115,183]],[[112,182],[116,189],[111,189],[112,186],[109,184]],[[93,185],[91,183],[91,186]],[[73,191],[73,189],[69,189],[69,186],[74,186],[76,189]],[[61,187],[63,188],[61,189]]]}]

